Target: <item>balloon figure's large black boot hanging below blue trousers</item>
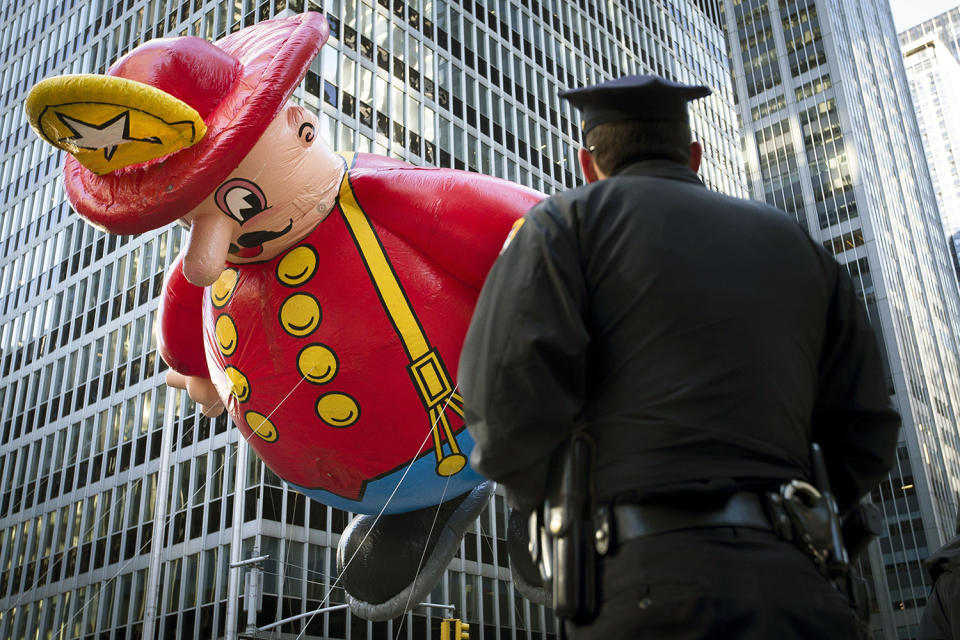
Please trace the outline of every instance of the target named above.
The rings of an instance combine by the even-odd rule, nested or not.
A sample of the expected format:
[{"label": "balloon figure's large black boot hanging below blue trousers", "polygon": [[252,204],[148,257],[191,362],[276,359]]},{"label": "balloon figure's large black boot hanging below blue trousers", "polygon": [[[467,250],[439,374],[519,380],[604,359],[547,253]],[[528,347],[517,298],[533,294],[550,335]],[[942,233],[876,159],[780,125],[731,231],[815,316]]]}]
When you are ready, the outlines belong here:
[{"label": "balloon figure's large black boot hanging below blue trousers", "polygon": [[408,513],[356,516],[337,546],[337,571],[351,612],[390,620],[420,604],[443,577],[494,487],[487,481],[439,506]]}]

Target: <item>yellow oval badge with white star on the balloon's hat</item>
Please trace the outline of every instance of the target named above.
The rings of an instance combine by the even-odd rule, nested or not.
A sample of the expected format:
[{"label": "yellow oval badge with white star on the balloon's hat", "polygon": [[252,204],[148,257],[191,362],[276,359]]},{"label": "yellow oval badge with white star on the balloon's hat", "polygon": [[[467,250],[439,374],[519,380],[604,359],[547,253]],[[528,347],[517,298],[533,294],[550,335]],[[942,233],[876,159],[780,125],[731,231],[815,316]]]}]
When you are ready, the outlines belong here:
[{"label": "yellow oval badge with white star on the balloon's hat", "polygon": [[187,103],[115,76],[41,80],[27,96],[25,110],[37,135],[98,175],[168,156],[207,132]]}]

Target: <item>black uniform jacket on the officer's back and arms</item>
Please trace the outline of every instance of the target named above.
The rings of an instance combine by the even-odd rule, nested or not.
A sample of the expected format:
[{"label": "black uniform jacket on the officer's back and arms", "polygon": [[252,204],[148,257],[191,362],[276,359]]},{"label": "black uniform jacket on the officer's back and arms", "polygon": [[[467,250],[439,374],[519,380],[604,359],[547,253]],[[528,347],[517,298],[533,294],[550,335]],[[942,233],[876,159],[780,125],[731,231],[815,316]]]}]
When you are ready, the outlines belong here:
[{"label": "black uniform jacket on the officer's back and arms", "polygon": [[841,509],[887,472],[899,417],[846,271],[766,204],[642,161],[534,207],[491,270],[459,382],[471,462],[543,499],[577,428],[597,493],[809,478]]}]

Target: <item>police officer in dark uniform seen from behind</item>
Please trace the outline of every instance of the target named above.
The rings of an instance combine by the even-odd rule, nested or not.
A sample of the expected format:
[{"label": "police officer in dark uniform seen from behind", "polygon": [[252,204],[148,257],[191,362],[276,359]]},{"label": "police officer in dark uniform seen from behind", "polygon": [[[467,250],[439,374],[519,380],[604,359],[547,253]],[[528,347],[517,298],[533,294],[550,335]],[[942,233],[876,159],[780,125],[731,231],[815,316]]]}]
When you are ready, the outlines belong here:
[{"label": "police officer in dark uniform seen from behind", "polygon": [[571,638],[849,638],[846,597],[776,533],[765,498],[809,481],[840,510],[899,427],[846,270],[782,211],[706,189],[687,103],[653,76],[566,91],[588,184],[535,206],[490,272],[459,382],[471,463],[537,508],[574,433],[613,514],[599,608]]}]

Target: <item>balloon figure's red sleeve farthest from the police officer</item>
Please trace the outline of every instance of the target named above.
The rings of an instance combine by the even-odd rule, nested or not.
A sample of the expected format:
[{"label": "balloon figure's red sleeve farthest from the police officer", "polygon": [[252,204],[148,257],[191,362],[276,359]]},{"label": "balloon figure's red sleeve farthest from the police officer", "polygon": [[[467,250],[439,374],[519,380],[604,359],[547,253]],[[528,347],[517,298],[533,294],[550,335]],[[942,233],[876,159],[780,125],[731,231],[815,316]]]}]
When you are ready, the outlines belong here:
[{"label": "balloon figure's red sleeve farthest from the police officer", "polygon": [[[210,378],[203,346],[203,288],[183,275],[183,254],[170,265],[157,313],[160,357],[185,376]],[[186,388],[186,387],[181,387]]]}]

